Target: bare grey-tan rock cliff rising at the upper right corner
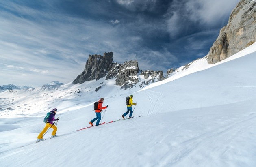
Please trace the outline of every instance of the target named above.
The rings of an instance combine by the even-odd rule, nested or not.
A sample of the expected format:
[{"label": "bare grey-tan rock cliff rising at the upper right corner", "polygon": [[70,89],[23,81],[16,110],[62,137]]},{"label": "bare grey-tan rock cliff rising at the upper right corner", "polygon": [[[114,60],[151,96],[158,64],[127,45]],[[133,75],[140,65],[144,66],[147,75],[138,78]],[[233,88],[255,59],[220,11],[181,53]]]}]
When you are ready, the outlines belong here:
[{"label": "bare grey-tan rock cliff rising at the upper right corner", "polygon": [[251,1],[241,0],[233,9],[228,24],[210,48],[209,64],[224,60],[256,41],[256,2]]}]

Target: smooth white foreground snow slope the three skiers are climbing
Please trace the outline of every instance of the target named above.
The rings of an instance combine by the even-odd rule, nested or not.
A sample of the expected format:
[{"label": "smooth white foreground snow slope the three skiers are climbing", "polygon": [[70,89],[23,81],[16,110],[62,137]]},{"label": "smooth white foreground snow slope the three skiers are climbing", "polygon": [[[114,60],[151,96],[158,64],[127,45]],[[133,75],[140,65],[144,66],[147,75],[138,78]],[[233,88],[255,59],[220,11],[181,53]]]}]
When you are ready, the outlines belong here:
[{"label": "smooth white foreground snow slope the three skiers are climbing", "polygon": [[[35,141],[44,127],[42,112],[1,118],[0,166],[255,167],[255,48],[253,44],[232,60],[141,91],[106,84],[107,89],[96,93],[70,95],[54,103],[60,136],[49,139],[51,129],[39,143]],[[74,86],[61,88],[52,94]],[[109,106],[102,112],[104,122],[121,118],[130,94],[137,102],[135,118],[76,131],[95,117],[96,94]],[[0,95],[4,99],[7,93]]]}]

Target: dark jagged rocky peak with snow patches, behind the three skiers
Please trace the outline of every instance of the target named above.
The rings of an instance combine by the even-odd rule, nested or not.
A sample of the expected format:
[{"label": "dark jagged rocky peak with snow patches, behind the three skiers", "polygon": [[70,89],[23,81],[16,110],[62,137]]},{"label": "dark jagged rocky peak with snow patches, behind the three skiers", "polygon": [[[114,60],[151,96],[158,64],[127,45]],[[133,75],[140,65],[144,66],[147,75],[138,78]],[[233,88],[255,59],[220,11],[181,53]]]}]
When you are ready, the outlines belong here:
[{"label": "dark jagged rocky peak with snow patches, behind the three skiers", "polygon": [[[132,88],[135,84],[140,82],[140,78],[145,79],[141,81],[140,87],[148,85],[150,82],[162,81],[162,71],[141,71],[139,73],[139,65],[137,60],[126,61],[124,64],[113,62],[113,52],[104,53],[101,55],[89,55],[89,59],[86,62],[85,70],[76,77],[73,81],[74,84],[82,84],[85,81],[93,79],[100,79],[106,76],[106,80],[115,79],[115,85],[121,87],[121,89]],[[98,88],[96,91],[98,91]]]}]

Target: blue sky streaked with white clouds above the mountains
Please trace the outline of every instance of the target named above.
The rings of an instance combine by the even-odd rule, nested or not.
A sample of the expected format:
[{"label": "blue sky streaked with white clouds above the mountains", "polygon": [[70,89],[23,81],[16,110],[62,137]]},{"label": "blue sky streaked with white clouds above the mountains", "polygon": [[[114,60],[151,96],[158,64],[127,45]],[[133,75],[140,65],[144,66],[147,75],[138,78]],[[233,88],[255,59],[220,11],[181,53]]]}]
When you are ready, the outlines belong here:
[{"label": "blue sky streaked with white clouds above the mountains", "polygon": [[91,54],[139,69],[208,54],[239,0],[0,1],[0,85],[74,81]]}]

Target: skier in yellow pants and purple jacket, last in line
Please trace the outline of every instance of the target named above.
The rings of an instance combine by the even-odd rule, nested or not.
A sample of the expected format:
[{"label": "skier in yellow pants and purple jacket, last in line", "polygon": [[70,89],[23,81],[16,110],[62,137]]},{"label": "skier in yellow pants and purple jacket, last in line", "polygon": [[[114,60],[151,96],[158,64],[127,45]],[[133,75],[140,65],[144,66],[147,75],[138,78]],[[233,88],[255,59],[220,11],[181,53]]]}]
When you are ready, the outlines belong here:
[{"label": "skier in yellow pants and purple jacket, last in line", "polygon": [[41,133],[39,133],[38,137],[37,137],[37,141],[40,141],[41,139],[43,139],[43,134],[46,133],[48,128],[52,128],[52,137],[56,137],[56,131],[57,131],[57,126],[55,126],[52,121],[57,121],[59,120],[59,118],[55,119],[54,116],[57,113],[57,109],[54,108],[51,112],[50,112],[50,116],[48,118],[48,122],[46,123],[46,126],[43,128],[43,131],[41,131]]}]

